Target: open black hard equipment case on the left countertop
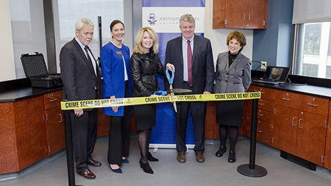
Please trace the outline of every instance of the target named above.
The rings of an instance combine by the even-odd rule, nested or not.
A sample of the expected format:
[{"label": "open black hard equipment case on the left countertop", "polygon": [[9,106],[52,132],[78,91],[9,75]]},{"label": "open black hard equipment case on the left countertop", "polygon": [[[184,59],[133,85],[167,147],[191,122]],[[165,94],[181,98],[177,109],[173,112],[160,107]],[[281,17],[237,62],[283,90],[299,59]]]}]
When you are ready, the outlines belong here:
[{"label": "open black hard equipment case on the left countertop", "polygon": [[32,87],[60,87],[63,85],[60,74],[48,74],[43,54],[22,54],[21,63]]}]

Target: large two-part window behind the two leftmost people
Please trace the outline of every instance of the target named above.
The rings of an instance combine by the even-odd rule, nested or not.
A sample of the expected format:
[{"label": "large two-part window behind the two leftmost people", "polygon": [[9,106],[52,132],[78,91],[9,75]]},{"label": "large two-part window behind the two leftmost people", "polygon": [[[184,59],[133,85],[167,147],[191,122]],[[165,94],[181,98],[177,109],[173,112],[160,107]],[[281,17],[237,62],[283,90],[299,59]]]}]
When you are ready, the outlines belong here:
[{"label": "large two-part window behind the two leftmost people", "polygon": [[[43,53],[48,65],[43,0],[10,0],[9,3],[16,79],[21,79],[26,78],[21,64],[21,54]],[[59,52],[65,43],[74,38],[74,24],[83,17],[91,19],[94,23],[94,39],[90,48],[96,58],[99,56],[100,48],[98,17],[101,17],[102,21],[103,44],[111,40],[111,21],[119,19],[126,25],[123,43],[132,48],[131,4],[131,0],[52,0],[57,56],[54,63],[57,63],[57,72],[61,72]]]}]

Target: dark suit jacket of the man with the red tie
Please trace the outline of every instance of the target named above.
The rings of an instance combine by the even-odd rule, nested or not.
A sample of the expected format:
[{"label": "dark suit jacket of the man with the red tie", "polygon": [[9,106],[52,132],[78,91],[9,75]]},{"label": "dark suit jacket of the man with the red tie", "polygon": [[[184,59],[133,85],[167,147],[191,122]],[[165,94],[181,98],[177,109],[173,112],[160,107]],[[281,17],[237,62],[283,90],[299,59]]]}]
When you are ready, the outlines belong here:
[{"label": "dark suit jacket of the man with the red tie", "polygon": [[[182,37],[168,41],[165,50],[165,64],[172,63],[175,68],[174,88],[183,88],[183,48]],[[194,94],[212,92],[214,85],[214,62],[212,58],[212,45],[210,40],[194,35],[192,77]],[[165,81],[165,90],[169,87]]]}]

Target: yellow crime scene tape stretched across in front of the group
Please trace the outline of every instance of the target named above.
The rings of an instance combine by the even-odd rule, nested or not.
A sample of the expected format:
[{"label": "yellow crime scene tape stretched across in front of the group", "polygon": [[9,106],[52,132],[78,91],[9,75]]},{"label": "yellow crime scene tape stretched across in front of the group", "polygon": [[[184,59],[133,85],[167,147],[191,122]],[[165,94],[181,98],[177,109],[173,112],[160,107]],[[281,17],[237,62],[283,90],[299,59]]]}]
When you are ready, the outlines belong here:
[{"label": "yellow crime scene tape stretched across in front of the group", "polygon": [[92,99],[80,101],[61,101],[61,110],[91,109],[99,107],[144,105],[172,101],[231,101],[260,99],[261,92],[239,92],[225,94],[188,94],[174,96],[148,96],[119,99]]}]

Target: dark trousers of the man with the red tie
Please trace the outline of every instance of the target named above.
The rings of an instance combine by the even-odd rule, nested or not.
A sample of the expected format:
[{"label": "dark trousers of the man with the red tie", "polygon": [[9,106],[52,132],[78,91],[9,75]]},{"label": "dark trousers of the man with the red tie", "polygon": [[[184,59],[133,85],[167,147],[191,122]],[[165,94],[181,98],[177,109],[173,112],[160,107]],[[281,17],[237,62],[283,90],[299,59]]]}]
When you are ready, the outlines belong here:
[{"label": "dark trousers of the man with the red tie", "polygon": [[[192,90],[192,87],[188,83],[184,83],[184,88]],[[188,92],[188,94],[194,93]],[[207,103],[202,101],[177,102],[176,149],[178,152],[185,152],[187,150],[185,141],[189,110],[194,128],[194,152],[203,152],[205,149],[205,112],[207,110]]]}]

